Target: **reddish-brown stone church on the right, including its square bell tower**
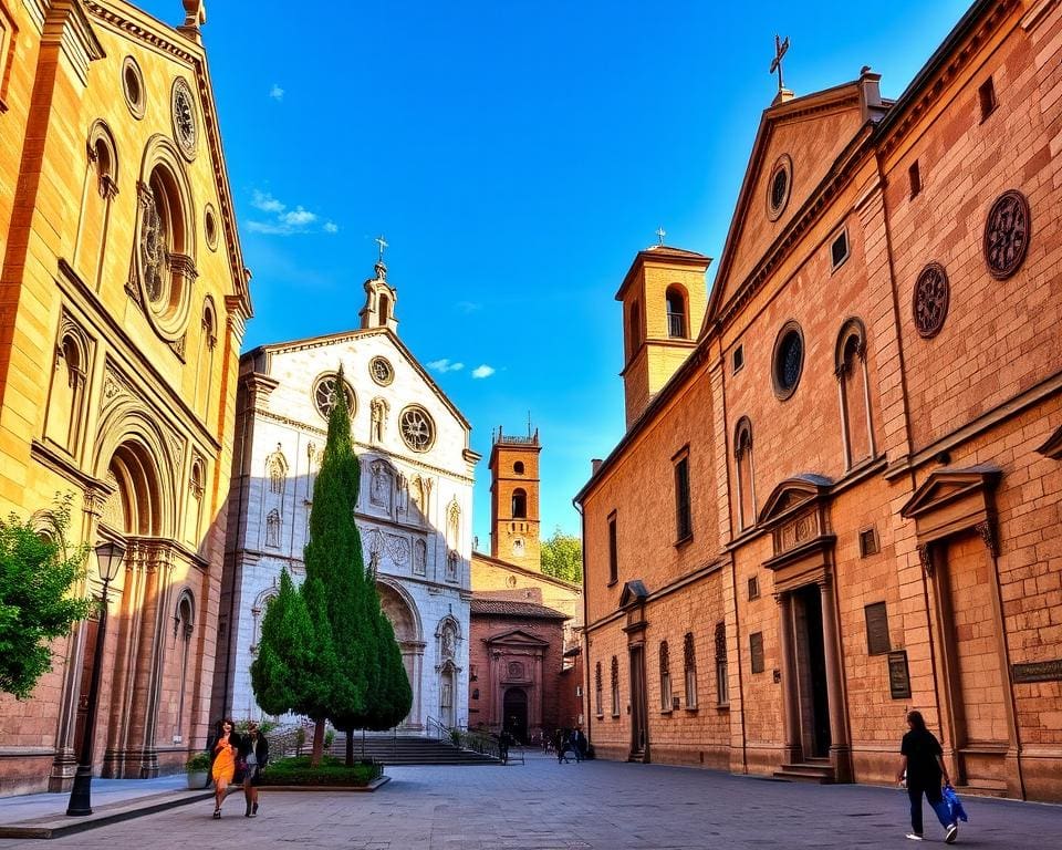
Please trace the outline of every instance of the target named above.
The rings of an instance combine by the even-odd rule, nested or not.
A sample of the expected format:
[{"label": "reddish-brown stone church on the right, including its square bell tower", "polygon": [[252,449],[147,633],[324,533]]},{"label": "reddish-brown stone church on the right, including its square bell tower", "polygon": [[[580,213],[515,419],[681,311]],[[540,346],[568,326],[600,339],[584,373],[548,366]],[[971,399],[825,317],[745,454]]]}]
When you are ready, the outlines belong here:
[{"label": "reddish-brown stone church on the right, including its square bell tower", "polygon": [[779,73],[710,298],[634,258],[600,755],[891,782],[918,708],[958,785],[1062,799],[1060,91],[1058,0],[978,0],[895,101]]}]

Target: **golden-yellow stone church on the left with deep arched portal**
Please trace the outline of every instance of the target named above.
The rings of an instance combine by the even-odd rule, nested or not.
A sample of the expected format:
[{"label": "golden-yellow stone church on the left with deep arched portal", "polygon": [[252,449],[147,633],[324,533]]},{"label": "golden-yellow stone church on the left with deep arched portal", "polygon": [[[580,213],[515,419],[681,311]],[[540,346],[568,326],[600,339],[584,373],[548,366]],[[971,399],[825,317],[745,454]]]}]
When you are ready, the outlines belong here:
[{"label": "golden-yellow stone church on the left with deep arched portal", "polygon": [[[125,547],[108,591],[96,770],[202,747],[249,273],[200,41],[126,2],[0,0],[0,516]],[[174,2],[174,12],[180,8]],[[98,595],[96,561],[87,585]],[[69,789],[97,622],[0,697],[0,794]]]}]

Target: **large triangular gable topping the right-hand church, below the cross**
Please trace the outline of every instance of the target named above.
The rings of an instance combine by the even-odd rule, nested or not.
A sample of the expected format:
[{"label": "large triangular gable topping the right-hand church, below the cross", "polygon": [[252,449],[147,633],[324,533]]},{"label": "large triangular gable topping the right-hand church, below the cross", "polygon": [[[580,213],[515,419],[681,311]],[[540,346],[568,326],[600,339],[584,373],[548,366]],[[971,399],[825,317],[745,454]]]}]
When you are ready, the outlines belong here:
[{"label": "large triangular gable topping the right-hand church, below the cross", "polygon": [[[775,101],[764,110],[723,246],[704,328],[756,279],[767,258],[784,243],[810,200],[851,154],[868,118],[884,114],[877,74],[802,97]],[[772,183],[788,170],[784,199],[775,205]],[[704,331],[702,331],[704,332]]]}]

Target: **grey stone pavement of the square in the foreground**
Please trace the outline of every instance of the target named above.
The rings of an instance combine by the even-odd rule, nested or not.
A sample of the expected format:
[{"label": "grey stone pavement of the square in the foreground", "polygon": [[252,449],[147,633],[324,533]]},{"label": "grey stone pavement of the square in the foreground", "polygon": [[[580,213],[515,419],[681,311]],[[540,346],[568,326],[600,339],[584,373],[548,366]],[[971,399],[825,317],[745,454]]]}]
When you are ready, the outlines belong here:
[{"label": "grey stone pavement of the square in the foreground", "polygon": [[[263,791],[258,818],[233,795],[49,842],[7,848],[347,848],[348,850],[698,850],[943,846],[926,806],[927,841],[907,841],[897,789],[814,786],[658,765],[391,768],[375,794]],[[1062,807],[967,799],[959,846],[1062,848]],[[930,828],[930,821],[933,823]]]}]

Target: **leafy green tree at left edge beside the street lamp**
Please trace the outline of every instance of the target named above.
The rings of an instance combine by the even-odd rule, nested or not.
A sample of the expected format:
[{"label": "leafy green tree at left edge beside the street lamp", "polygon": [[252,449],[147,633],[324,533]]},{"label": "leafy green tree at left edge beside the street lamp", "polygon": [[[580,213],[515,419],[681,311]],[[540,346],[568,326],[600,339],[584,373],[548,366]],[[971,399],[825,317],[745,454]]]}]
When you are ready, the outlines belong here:
[{"label": "leafy green tree at left edge beside the street lamp", "polygon": [[52,668],[52,640],[84,620],[93,599],[71,597],[85,574],[86,546],[66,551],[71,498],[56,498],[43,533],[14,514],[0,520],[0,691],[28,699]]}]

